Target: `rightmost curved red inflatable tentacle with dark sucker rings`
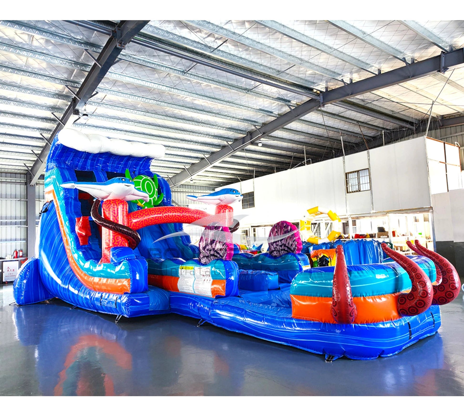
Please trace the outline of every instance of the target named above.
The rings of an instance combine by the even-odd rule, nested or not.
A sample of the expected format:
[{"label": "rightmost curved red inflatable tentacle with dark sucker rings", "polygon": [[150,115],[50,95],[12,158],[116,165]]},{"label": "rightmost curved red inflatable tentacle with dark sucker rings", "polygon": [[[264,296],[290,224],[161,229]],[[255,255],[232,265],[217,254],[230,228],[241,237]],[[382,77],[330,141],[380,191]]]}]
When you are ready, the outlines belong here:
[{"label": "rightmost curved red inflatable tentacle with dark sucker rings", "polygon": [[422,246],[419,243],[419,240],[415,240],[414,243],[424,256],[432,259],[435,266],[439,268],[441,272],[441,283],[439,285],[433,285],[432,304],[443,305],[451,303],[451,301],[458,297],[459,289],[461,287],[461,280],[459,279],[458,271],[456,271],[456,268],[448,259]]}]

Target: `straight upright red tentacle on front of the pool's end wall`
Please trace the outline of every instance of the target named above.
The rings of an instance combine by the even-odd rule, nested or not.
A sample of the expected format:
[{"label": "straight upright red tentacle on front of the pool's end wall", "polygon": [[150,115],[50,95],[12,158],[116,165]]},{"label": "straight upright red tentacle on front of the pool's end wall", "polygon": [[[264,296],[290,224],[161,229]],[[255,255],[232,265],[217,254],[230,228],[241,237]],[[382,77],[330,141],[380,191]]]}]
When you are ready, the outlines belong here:
[{"label": "straight upright red tentacle on front of the pool's end wall", "polygon": [[331,313],[335,322],[339,324],[351,324],[354,322],[358,311],[353,302],[342,245],[338,245],[335,252],[337,262],[335,263],[334,283],[332,287]]}]

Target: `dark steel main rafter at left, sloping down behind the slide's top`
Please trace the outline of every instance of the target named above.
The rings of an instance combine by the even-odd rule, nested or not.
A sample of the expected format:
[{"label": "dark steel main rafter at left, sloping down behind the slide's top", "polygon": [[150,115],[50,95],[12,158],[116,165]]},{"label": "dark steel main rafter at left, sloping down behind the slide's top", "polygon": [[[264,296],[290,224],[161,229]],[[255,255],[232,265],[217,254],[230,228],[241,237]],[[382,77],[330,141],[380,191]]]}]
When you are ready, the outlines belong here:
[{"label": "dark steel main rafter at left, sloping down behind the slide's top", "polygon": [[[103,50],[97,57],[97,63],[92,65],[89,73],[82,82],[76,93],[76,97],[71,100],[70,105],[65,110],[63,116],[60,119],[60,123],[55,127],[50,138],[53,139],[55,135],[63,128],[63,126],[71,119],[71,116],[75,114],[80,108],[84,107],[87,100],[95,92],[95,89],[102,81],[108,70],[111,68],[116,61],[121,50],[128,44],[131,39],[142,30],[143,26],[147,25],[148,20],[122,20],[115,27],[114,32],[111,34],[107,43],[103,47]],[[42,174],[45,168],[45,161],[50,150],[50,145],[45,145],[40,152],[39,157],[34,162],[31,168],[31,185],[34,185],[39,176]]]}]

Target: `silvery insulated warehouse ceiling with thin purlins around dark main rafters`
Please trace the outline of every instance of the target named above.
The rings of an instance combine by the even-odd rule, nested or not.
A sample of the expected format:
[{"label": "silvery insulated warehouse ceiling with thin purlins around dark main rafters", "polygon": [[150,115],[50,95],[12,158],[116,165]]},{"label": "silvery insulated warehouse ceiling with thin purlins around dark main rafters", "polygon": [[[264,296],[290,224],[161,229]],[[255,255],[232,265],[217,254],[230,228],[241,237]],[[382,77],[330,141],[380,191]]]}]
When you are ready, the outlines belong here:
[{"label": "silvery insulated warehouse ceiling with thin purlins around dark main rafters", "polygon": [[[116,23],[0,21],[2,171],[32,169]],[[153,20],[73,126],[165,145],[152,171],[172,178],[321,92],[463,46],[464,21]],[[458,65],[325,105],[191,182],[220,186],[288,170],[340,155],[341,137],[345,152],[356,152],[423,130],[430,114],[432,128],[463,113]]]}]

